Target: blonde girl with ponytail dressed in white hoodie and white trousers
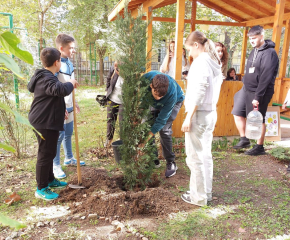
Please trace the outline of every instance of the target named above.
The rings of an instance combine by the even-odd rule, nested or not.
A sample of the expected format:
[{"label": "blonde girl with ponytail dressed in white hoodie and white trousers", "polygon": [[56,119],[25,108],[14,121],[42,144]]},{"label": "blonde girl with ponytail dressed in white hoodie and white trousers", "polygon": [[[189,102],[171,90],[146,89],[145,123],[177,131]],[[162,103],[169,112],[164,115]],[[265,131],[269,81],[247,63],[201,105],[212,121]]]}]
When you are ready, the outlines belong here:
[{"label": "blonde girl with ponytail dressed in white hoodie and white trousers", "polygon": [[211,144],[217,120],[216,104],[223,82],[221,62],[214,43],[199,31],[192,32],[185,47],[194,61],[187,77],[185,96],[186,163],[191,171],[190,190],[181,198],[204,206],[212,199],[213,160]]}]

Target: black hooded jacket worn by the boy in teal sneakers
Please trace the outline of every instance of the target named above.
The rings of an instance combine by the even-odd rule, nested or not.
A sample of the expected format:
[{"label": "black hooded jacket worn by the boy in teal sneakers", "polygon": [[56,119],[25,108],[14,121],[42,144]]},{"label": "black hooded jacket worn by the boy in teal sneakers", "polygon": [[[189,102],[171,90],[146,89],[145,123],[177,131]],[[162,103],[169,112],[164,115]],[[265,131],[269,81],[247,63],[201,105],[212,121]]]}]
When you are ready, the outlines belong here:
[{"label": "black hooded jacket worn by the boy in teal sneakers", "polygon": [[73,91],[73,84],[60,82],[46,69],[37,69],[27,88],[34,93],[28,115],[31,125],[36,129],[63,131],[64,97]]}]

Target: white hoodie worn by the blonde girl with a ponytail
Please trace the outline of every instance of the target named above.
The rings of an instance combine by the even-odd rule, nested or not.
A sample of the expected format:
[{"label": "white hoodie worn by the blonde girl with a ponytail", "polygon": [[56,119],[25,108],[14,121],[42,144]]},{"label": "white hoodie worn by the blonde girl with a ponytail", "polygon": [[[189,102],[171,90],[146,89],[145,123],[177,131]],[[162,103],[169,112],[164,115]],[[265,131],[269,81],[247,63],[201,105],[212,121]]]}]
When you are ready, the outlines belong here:
[{"label": "white hoodie worn by the blonde girl with a ponytail", "polygon": [[194,106],[198,106],[198,110],[215,111],[222,82],[221,65],[207,52],[201,53],[189,69],[185,111],[192,111]]}]

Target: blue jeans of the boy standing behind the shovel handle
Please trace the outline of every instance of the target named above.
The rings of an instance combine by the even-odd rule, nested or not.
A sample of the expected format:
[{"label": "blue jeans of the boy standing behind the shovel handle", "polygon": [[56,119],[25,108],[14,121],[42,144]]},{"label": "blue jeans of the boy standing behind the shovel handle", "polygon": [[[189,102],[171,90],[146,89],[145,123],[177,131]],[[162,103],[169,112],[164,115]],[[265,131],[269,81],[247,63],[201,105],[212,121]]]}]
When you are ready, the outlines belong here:
[{"label": "blue jeans of the boy standing behind the shovel handle", "polygon": [[73,158],[72,153],[72,146],[71,146],[71,137],[74,130],[74,122],[71,121],[70,123],[64,124],[63,126],[64,131],[59,132],[59,138],[57,141],[57,151],[56,156],[53,159],[53,165],[60,165],[60,146],[61,143],[63,144],[64,155],[66,159]]}]

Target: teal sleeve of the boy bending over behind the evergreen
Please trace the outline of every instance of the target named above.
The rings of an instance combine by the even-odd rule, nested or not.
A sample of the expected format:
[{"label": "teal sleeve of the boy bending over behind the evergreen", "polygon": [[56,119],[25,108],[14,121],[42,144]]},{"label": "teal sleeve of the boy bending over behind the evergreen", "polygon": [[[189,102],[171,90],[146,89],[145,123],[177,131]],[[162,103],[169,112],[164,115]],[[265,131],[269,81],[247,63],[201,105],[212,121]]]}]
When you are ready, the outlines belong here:
[{"label": "teal sleeve of the boy bending over behind the evergreen", "polygon": [[158,117],[155,119],[155,122],[151,127],[151,132],[153,134],[156,134],[165,126],[168,118],[171,116],[175,104],[176,104],[176,94],[172,95],[169,101],[167,101],[166,104],[161,108]]}]

